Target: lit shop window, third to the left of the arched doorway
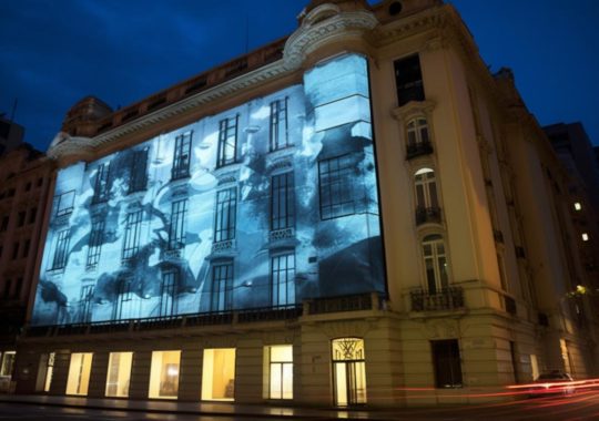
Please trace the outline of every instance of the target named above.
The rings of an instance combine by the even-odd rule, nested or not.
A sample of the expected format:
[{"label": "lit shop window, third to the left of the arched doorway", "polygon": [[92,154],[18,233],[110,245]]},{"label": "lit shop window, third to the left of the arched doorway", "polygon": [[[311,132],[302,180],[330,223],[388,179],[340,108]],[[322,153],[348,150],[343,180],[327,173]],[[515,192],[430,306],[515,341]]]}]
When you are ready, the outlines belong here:
[{"label": "lit shop window, third to the left of the arched doorway", "polygon": [[181,351],[152,352],[149,398],[176,399]]}]

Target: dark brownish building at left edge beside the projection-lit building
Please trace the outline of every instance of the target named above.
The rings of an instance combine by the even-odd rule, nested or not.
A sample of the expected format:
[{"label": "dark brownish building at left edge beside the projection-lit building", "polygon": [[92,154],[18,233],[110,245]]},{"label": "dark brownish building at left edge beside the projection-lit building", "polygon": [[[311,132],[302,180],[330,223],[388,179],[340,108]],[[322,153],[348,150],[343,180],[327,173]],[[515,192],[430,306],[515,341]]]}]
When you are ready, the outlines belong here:
[{"label": "dark brownish building at left edge beside the projection-lit building", "polygon": [[16,340],[37,285],[52,165],[27,143],[0,157],[0,390],[9,388]]}]

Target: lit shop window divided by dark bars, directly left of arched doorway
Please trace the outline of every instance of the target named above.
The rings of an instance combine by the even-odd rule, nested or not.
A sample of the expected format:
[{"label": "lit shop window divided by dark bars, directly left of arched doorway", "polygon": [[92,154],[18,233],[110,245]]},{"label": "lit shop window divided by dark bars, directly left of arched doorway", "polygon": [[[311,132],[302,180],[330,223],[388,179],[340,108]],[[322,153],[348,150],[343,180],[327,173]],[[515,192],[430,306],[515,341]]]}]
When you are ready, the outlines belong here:
[{"label": "lit shop window divided by dark bars, directly left of arched doorway", "polygon": [[264,347],[267,399],[293,399],[293,346]]}]

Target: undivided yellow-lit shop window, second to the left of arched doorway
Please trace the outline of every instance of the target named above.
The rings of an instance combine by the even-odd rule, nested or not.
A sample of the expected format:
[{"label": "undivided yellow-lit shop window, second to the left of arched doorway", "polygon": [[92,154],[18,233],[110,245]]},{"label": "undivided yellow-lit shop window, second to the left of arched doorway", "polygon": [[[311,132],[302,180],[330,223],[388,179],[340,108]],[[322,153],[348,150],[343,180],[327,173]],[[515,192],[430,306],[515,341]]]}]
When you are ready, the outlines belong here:
[{"label": "undivided yellow-lit shop window, second to the left of arched doorway", "polygon": [[235,399],[235,348],[204,349],[202,400]]}]

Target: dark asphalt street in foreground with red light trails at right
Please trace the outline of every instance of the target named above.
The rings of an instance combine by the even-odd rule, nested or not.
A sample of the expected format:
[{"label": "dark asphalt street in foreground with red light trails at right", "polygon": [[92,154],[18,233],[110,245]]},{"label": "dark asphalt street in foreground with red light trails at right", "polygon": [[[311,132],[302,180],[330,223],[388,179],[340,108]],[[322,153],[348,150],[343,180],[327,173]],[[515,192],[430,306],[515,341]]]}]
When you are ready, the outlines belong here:
[{"label": "dark asphalt street in foreground with red light trails at right", "polygon": [[[308,417],[298,419],[326,420],[325,417]],[[356,417],[357,415],[357,417]],[[263,418],[264,420],[283,420],[285,418]],[[396,411],[374,410],[341,411],[339,418],[363,418],[370,420],[405,420],[405,421],[590,421],[599,420],[599,393],[580,392],[572,397],[555,397],[526,399],[517,402],[480,404],[453,408],[409,408]],[[176,420],[176,421],[229,421],[229,420],[261,420],[256,415],[190,415],[140,411],[97,410],[81,408],[63,408],[39,404],[0,403],[0,421],[59,421],[59,420]]]}]

